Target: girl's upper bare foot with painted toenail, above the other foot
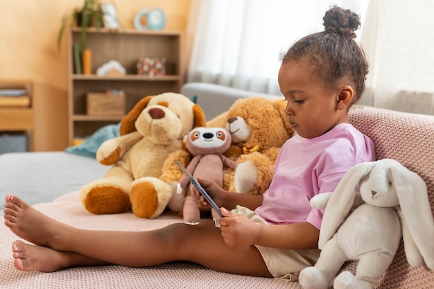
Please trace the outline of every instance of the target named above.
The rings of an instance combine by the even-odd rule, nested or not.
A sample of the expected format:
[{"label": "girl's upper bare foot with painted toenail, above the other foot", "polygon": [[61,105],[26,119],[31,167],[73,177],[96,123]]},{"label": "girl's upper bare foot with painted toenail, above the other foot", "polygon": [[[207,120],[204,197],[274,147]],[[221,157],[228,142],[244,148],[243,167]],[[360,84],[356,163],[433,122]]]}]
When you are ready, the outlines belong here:
[{"label": "girl's upper bare foot with painted toenail, above the other foot", "polygon": [[55,249],[55,237],[67,226],[45,216],[15,195],[6,196],[3,212],[6,227],[15,235],[44,247]]}]

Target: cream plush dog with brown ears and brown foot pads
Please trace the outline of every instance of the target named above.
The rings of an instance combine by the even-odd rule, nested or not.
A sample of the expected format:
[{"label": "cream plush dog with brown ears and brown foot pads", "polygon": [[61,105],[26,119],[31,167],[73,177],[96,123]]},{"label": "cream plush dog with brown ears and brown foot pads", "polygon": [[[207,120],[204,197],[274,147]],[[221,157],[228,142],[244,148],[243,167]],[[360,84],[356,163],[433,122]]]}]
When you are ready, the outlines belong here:
[{"label": "cream plush dog with brown ears and brown foot pads", "polygon": [[204,125],[202,109],[182,94],[141,99],[122,119],[121,136],[98,148],[98,161],[112,168],[80,190],[84,207],[96,214],[132,207],[141,218],[159,216],[172,198],[171,187],[158,179],[164,161],[181,147],[185,134]]}]

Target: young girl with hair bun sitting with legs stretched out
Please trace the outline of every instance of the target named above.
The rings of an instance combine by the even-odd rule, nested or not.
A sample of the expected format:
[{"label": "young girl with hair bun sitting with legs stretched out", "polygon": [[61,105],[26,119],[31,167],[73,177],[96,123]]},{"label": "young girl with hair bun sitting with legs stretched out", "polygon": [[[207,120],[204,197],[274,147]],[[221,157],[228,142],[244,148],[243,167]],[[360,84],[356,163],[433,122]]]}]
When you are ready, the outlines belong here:
[{"label": "young girl with hair bun sitting with legs stretched out", "polygon": [[227,192],[201,180],[224,207],[220,228],[205,221],[141,232],[76,229],[8,195],[5,225],[35,244],[12,244],[15,267],[52,272],[192,261],[221,272],[297,280],[319,256],[322,212],[311,209],[309,200],[333,191],[355,164],[374,161],[372,141],[349,124],[349,107],[365,89],[367,74],[365,55],[353,40],[359,17],[335,6],[326,12],[324,26],[283,57],[279,86],[297,135],[281,148],[263,195]]}]

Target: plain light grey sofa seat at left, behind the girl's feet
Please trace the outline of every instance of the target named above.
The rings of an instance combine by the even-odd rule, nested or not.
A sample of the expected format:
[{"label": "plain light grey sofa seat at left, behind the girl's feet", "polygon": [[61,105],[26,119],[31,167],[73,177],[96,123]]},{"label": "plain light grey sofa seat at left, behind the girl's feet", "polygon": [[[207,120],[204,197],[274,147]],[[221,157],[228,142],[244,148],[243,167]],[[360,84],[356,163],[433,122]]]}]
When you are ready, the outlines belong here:
[{"label": "plain light grey sofa seat at left, behind the girl's feet", "polygon": [[1,198],[13,193],[30,204],[51,202],[103,177],[109,168],[96,159],[67,152],[6,153],[0,155]]}]

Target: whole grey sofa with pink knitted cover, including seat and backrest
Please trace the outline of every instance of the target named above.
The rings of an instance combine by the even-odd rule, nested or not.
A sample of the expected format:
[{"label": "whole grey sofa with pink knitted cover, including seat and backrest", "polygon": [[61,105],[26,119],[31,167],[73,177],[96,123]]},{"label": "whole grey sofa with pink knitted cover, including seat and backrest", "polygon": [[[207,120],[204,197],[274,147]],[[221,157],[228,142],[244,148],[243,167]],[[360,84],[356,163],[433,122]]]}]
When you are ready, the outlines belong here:
[{"label": "whole grey sofa with pink knitted cover, including seat and backrest", "polygon": [[[225,112],[238,98],[279,97],[204,83],[187,83],[181,92],[196,99],[208,120]],[[434,211],[434,116],[356,105],[351,109],[350,123],[374,141],[377,159],[396,159],[424,179]],[[83,229],[142,231],[182,222],[170,211],[154,220],[137,218],[131,212],[92,215],[85,211],[78,189],[102,177],[107,169],[95,159],[67,152],[0,155],[1,198],[15,193],[52,218]],[[0,226],[0,288],[301,288],[297,282],[215,272],[188,262],[150,268],[112,265],[53,273],[19,272],[12,265],[10,249],[16,239],[6,226]],[[355,269],[354,261],[342,266],[342,270]],[[425,265],[410,267],[401,242],[375,288],[434,288],[434,272]]]}]

